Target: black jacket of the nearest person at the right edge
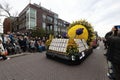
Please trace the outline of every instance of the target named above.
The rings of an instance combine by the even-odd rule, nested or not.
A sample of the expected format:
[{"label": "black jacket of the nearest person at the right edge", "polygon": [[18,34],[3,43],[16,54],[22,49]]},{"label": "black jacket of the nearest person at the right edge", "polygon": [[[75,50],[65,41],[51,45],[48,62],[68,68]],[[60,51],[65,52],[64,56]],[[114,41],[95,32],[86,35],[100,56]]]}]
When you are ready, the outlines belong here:
[{"label": "black jacket of the nearest person at the right edge", "polygon": [[107,59],[115,64],[120,64],[120,37],[108,38]]}]

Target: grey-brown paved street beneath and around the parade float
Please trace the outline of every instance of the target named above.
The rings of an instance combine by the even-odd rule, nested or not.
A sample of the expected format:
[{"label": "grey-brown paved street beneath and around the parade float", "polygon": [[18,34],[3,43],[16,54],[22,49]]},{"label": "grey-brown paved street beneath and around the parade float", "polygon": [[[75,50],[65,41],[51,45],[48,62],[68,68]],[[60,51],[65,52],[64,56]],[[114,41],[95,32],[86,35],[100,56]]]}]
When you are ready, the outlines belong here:
[{"label": "grey-brown paved street beneath and around the parade float", "polygon": [[81,64],[66,65],[42,53],[23,53],[0,61],[0,80],[109,80],[103,43]]}]

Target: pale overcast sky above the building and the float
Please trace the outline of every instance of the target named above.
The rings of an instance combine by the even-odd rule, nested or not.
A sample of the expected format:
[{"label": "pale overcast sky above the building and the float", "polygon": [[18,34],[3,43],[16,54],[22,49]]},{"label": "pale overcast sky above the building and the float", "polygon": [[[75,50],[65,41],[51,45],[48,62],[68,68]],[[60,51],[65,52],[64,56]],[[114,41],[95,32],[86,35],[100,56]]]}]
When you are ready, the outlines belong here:
[{"label": "pale overcast sky above the building and the float", "polygon": [[[0,0],[11,5],[11,13],[20,13],[30,0]],[[57,13],[70,23],[86,19],[99,36],[104,36],[114,25],[120,24],[120,0],[31,0],[31,3]],[[0,29],[1,30],[1,29]]]}]

